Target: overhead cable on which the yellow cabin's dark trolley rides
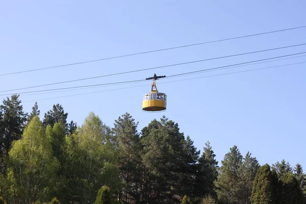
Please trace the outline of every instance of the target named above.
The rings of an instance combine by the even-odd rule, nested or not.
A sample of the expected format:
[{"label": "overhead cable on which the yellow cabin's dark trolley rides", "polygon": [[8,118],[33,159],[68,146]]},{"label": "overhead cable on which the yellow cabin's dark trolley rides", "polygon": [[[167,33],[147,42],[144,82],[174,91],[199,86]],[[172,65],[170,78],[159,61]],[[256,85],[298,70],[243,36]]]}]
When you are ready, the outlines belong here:
[{"label": "overhead cable on which the yellow cabin's dark trolley rides", "polygon": [[[186,74],[190,74],[190,73],[203,72],[203,71],[214,70],[214,69],[219,69],[219,68],[224,68],[224,67],[231,67],[231,66],[242,65],[242,64],[248,64],[248,63],[253,63],[253,62],[260,62],[260,61],[271,60],[271,59],[277,59],[277,58],[282,58],[282,57],[287,57],[287,56],[293,56],[293,55],[299,55],[299,54],[305,54],[305,53],[306,53],[306,52],[302,52],[302,53],[290,54],[290,55],[285,55],[285,56],[278,56],[278,57],[273,57],[273,58],[266,58],[266,59],[254,60],[254,61],[249,61],[249,62],[242,62],[242,63],[238,63],[238,64],[232,64],[232,65],[225,65],[225,66],[220,66],[220,67],[214,67],[214,68],[209,68],[209,69],[202,69],[202,70],[197,70],[197,71],[185,72],[185,73],[180,73],[180,74],[173,74],[173,75],[170,75],[170,76],[168,76],[168,77],[175,77],[175,76],[179,76],[179,75],[186,75]],[[82,88],[82,87],[103,86],[103,85],[111,85],[111,84],[124,84],[124,83],[142,82],[142,81],[145,81],[145,80],[134,80],[134,81],[125,81],[125,82],[113,82],[113,83],[106,83],[106,84],[93,84],[93,85],[86,85],[86,86],[65,87],[65,88],[46,89],[46,90],[38,90],[38,91],[27,91],[27,92],[19,92],[18,94],[23,94],[23,93],[36,93],[36,92],[44,92],[44,91],[55,91],[55,90],[64,90],[64,89],[73,89],[73,88]],[[16,93],[0,94],[0,96],[12,95],[12,94],[16,94]]]}]

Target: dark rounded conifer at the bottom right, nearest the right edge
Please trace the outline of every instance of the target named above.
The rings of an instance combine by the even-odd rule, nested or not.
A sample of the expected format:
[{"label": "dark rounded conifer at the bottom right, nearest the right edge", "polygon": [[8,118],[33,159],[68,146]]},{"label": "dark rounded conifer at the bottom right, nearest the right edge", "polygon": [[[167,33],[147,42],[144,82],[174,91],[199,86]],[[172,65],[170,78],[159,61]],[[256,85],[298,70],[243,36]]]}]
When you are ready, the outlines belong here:
[{"label": "dark rounded conifer at the bottom right, nearest the right edge", "polygon": [[286,204],[304,204],[305,199],[299,187],[299,183],[291,171],[284,175],[284,195]]}]

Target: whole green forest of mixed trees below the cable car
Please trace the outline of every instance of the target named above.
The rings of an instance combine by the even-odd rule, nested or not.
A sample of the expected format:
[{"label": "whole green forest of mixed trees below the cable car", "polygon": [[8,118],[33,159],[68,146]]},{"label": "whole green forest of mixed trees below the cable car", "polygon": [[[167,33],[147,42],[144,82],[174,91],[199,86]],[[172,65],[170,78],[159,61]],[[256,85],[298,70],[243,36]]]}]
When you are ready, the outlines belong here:
[{"label": "whole green forest of mixed trees below the cable car", "polygon": [[219,163],[166,116],[139,132],[129,113],[77,125],[60,104],[32,109],[19,95],[0,106],[0,203],[306,203],[300,164],[260,165],[236,145]]}]

